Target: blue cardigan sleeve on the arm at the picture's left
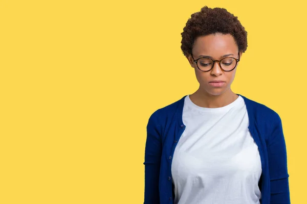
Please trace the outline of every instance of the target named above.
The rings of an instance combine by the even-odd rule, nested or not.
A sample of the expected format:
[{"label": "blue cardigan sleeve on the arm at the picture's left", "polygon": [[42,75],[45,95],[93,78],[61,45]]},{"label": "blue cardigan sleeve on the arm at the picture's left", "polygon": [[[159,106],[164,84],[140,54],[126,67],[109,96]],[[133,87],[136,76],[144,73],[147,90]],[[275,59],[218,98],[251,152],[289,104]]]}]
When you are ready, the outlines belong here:
[{"label": "blue cardigan sleeve on the arm at the picture's left", "polygon": [[157,112],[153,113],[147,124],[145,144],[145,190],[144,204],[159,204],[159,174],[162,143],[157,123]]}]

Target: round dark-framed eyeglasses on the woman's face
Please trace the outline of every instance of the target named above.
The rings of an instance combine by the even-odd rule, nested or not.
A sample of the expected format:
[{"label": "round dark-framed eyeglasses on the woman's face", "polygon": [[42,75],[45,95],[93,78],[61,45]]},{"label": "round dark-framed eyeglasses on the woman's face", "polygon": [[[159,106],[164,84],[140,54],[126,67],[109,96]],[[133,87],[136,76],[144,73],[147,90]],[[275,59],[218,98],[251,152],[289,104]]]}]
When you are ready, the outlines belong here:
[{"label": "round dark-framed eyeglasses on the woman's face", "polygon": [[236,67],[238,61],[240,61],[239,53],[238,53],[239,59],[232,58],[232,57],[226,57],[221,60],[212,60],[210,58],[201,57],[197,60],[194,60],[193,55],[191,56],[192,56],[193,61],[197,64],[197,67],[201,71],[210,71],[214,67],[215,62],[218,62],[218,64],[220,65],[223,71],[232,71]]}]

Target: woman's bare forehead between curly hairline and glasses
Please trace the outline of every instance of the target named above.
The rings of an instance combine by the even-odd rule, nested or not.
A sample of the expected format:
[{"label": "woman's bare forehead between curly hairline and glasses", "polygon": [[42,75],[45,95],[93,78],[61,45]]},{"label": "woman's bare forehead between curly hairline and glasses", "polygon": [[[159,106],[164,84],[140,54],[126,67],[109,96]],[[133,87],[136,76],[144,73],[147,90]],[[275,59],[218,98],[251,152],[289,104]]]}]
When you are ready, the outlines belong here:
[{"label": "woman's bare forehead between curly hairline and glasses", "polygon": [[192,50],[194,55],[222,56],[237,53],[238,47],[232,35],[217,33],[196,38]]}]

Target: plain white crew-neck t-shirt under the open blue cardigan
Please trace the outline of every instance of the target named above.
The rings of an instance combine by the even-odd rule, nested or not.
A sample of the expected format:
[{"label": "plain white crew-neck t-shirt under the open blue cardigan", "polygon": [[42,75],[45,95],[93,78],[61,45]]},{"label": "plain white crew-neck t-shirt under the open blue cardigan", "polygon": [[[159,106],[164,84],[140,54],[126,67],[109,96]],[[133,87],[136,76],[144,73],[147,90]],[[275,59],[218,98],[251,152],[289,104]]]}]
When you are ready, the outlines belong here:
[{"label": "plain white crew-neck t-shirt under the open blue cardigan", "polygon": [[171,166],[174,203],[259,204],[261,160],[244,99],[203,108],[188,95],[183,123]]}]

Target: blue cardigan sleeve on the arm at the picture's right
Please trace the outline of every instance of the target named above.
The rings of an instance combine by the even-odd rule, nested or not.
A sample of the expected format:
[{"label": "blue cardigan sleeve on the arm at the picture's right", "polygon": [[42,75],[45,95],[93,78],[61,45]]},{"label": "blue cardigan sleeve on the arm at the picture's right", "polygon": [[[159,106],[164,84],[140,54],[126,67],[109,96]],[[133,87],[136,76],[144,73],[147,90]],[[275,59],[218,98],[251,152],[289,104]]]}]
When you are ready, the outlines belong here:
[{"label": "blue cardigan sleeve on the arm at the picture's right", "polygon": [[269,136],[268,159],[271,186],[271,204],[290,204],[289,174],[287,167],[287,150],[282,123],[276,113],[273,132]]}]

